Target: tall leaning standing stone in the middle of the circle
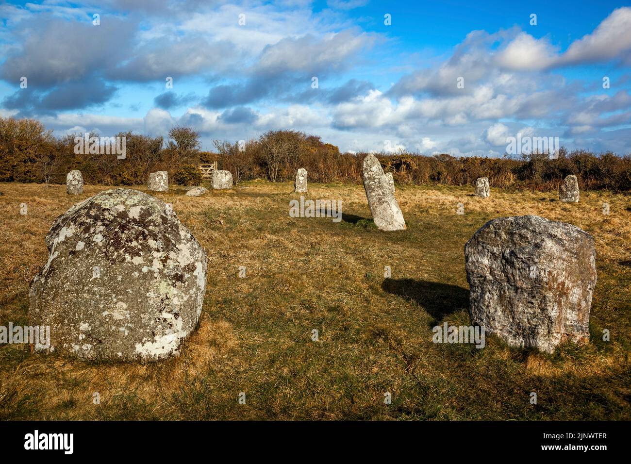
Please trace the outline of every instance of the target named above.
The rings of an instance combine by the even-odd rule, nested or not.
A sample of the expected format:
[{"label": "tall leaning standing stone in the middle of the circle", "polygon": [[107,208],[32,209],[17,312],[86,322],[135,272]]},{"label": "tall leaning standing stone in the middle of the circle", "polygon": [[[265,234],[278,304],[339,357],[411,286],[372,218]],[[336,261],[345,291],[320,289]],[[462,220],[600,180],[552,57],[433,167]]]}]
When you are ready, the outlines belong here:
[{"label": "tall leaning standing stone in the middle of the circle", "polygon": [[375,155],[363,158],[363,187],[372,219],[379,230],[403,230],[405,220],[384,170]]}]

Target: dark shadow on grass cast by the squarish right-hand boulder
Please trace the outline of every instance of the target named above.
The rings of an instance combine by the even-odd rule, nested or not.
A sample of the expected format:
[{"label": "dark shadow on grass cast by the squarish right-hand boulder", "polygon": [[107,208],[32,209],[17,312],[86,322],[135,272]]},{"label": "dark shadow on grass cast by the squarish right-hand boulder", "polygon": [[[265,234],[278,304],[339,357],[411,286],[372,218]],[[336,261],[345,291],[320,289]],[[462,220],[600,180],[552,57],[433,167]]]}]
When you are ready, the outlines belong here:
[{"label": "dark shadow on grass cast by the squarish right-hand boulder", "polygon": [[469,310],[469,290],[457,285],[386,278],[381,288],[393,295],[415,301],[437,321],[461,309]]}]

